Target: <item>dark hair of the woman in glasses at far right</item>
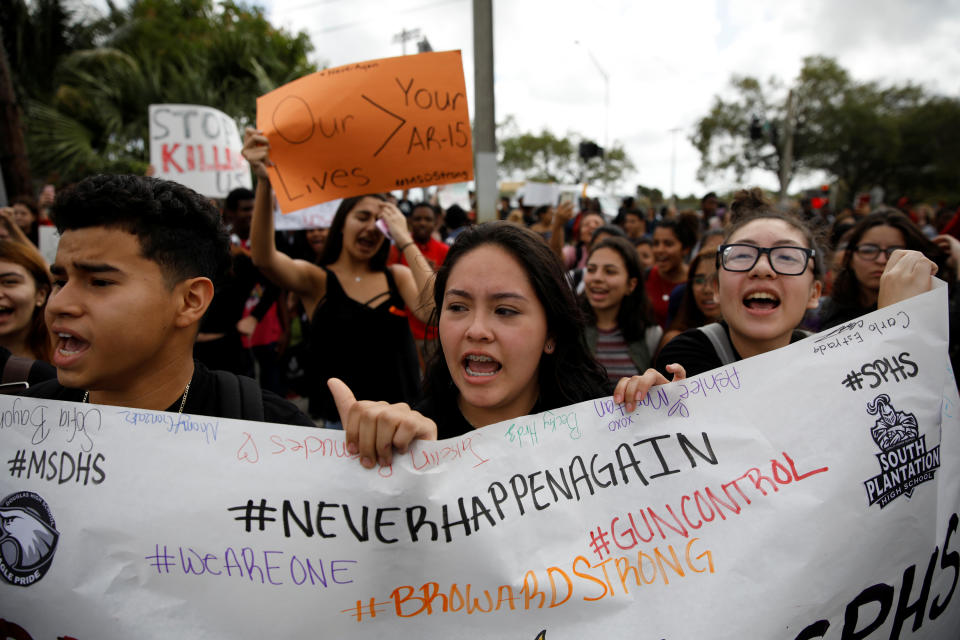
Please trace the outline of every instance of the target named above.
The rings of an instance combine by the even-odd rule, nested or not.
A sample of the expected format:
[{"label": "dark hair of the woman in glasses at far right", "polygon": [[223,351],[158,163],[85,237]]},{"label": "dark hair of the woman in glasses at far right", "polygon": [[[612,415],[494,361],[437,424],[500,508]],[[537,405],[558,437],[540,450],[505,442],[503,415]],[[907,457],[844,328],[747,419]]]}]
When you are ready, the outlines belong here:
[{"label": "dark hair of the woman in glasses at far right", "polygon": [[904,214],[899,211],[880,211],[864,216],[850,230],[846,254],[843,257],[840,272],[833,281],[833,292],[830,298],[831,303],[837,307],[860,306],[860,282],[857,280],[857,275],[850,263],[853,262],[854,250],[867,231],[881,226],[893,227],[900,231],[903,234],[906,249],[922,252],[923,255],[937,264],[938,277],[947,282],[953,282],[954,271],[947,265],[949,256],[940,247],[928,240],[917,225],[913,224],[910,218]]}]

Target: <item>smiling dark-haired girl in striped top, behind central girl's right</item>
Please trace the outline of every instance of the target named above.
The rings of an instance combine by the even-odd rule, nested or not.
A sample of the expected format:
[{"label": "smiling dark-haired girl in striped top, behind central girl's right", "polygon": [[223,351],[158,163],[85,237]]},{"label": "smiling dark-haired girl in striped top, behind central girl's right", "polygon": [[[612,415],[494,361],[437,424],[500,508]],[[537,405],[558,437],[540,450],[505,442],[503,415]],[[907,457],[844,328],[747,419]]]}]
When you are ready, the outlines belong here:
[{"label": "smiling dark-haired girl in striped top, behind central girl's right", "polygon": [[585,335],[611,382],[646,371],[663,335],[642,282],[640,260],[628,239],[608,237],[590,249],[581,297]]}]

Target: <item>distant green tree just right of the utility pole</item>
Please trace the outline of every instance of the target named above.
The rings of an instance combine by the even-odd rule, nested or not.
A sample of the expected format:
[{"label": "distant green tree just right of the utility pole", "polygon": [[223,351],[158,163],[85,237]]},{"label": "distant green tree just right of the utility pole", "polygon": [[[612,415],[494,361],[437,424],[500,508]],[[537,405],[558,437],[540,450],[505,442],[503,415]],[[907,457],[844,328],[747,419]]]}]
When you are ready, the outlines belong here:
[{"label": "distant green tree just right of the utility pole", "polygon": [[605,188],[617,185],[634,169],[623,146],[615,142],[603,157],[583,160],[580,143],[587,139],[578,133],[558,137],[548,129],[539,134],[518,131],[513,116],[498,127],[497,147],[501,177],[521,176],[536,182],[600,183]]}]

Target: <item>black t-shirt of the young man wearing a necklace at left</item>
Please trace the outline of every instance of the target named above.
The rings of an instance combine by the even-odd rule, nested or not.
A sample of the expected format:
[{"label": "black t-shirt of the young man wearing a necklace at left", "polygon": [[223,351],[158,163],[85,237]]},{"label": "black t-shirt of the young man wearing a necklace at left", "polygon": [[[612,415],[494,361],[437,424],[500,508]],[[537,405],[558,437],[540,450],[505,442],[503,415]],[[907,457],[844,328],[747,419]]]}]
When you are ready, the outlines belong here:
[{"label": "black t-shirt of the young man wearing a necklace at left", "polygon": [[[30,387],[21,395],[48,400],[83,402],[84,393],[86,392],[83,389],[71,389],[64,387],[56,380],[49,380]],[[180,401],[181,399],[177,398],[165,411],[179,413]],[[183,407],[183,413],[223,418],[225,416],[222,415],[222,405],[216,378],[202,363],[194,360],[193,378],[190,380],[190,391],[187,393],[187,403]],[[276,424],[316,426],[295,405],[266,389],[263,390],[263,420]]]}]

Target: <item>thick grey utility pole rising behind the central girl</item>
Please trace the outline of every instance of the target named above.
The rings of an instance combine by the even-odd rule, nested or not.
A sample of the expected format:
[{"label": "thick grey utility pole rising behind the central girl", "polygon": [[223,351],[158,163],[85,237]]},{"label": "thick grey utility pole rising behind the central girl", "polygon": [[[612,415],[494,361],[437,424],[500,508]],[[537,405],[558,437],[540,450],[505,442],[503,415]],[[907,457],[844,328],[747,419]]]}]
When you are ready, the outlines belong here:
[{"label": "thick grey utility pole rising behind the central girl", "polygon": [[497,219],[497,138],[493,102],[493,0],[473,0],[473,179],[477,222]]}]

